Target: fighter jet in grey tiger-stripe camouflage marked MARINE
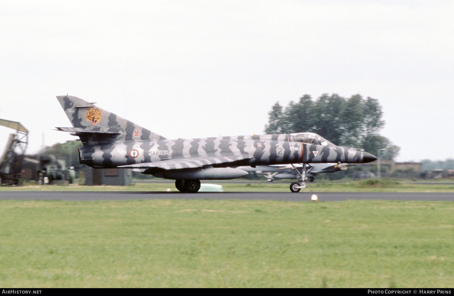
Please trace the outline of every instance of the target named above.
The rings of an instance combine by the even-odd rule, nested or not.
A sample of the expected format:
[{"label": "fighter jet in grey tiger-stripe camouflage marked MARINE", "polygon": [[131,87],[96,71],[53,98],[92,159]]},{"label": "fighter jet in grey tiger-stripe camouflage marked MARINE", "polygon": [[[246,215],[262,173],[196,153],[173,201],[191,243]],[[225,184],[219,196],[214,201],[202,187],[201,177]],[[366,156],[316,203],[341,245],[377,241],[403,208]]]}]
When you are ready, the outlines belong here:
[{"label": "fighter jet in grey tiger-stripe camouflage marked MARINE", "polygon": [[302,164],[300,182],[306,188],[308,163],[369,163],[377,158],[355,148],[336,146],[315,133],[291,133],[169,140],[129,120],[74,96],[58,96],[71,128],[83,144],[79,161],[92,168],[133,168],[143,174],[175,180],[181,192],[197,192],[200,180],[241,178],[238,166]]}]

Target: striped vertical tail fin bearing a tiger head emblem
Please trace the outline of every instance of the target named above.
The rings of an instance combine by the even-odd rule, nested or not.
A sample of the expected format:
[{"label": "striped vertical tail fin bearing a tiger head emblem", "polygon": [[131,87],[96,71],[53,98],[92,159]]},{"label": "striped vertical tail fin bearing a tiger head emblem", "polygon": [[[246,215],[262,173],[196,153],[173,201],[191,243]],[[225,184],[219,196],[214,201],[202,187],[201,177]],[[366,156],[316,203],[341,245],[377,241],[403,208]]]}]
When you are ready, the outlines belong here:
[{"label": "striped vertical tail fin bearing a tiger head emblem", "polygon": [[84,133],[120,133],[116,140],[124,141],[165,139],[138,124],[96,107],[95,103],[69,95],[58,96],[57,99],[73,127]]}]

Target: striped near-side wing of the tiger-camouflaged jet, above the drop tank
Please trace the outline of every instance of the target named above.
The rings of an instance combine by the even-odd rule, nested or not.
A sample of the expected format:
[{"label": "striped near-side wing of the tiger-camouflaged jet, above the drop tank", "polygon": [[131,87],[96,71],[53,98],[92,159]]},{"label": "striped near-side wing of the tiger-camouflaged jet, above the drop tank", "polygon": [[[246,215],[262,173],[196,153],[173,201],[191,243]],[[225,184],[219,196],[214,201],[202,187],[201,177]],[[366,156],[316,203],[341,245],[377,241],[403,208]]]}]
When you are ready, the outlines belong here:
[{"label": "striped near-side wing of the tiger-camouflaged jet, above the drop tank", "polygon": [[136,163],[119,166],[118,168],[160,168],[164,170],[175,170],[175,169],[185,169],[185,168],[203,168],[207,166],[212,166],[214,164],[230,164],[251,159],[250,155],[229,155],[229,156],[194,156],[194,157],[184,157],[184,158],[173,158],[165,159],[161,161],[155,161],[152,163]]}]

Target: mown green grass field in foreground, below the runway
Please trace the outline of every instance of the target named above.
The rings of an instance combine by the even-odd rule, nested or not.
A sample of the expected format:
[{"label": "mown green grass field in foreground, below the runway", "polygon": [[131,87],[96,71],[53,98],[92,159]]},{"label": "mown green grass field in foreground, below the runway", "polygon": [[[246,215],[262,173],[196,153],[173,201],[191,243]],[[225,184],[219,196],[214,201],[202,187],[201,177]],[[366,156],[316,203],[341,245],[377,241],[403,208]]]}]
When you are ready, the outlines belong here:
[{"label": "mown green grass field in foreground, below the runway", "polygon": [[3,287],[453,287],[454,203],[0,201]]}]

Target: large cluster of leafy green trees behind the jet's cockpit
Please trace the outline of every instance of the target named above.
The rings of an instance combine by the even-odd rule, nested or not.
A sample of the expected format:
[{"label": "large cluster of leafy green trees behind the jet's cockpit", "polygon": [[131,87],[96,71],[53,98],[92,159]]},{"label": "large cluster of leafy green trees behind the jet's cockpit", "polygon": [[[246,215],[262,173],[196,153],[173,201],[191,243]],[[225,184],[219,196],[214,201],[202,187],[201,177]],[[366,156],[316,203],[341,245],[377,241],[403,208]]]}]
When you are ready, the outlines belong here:
[{"label": "large cluster of leafy green trees behind the jet's cockpit", "polygon": [[268,116],[268,134],[311,132],[336,145],[364,149],[374,155],[385,148],[380,153],[382,159],[393,159],[399,154],[400,147],[379,134],[385,125],[380,103],[360,94],[350,98],[322,94],[316,100],[305,94],[285,108],[276,102]]}]

